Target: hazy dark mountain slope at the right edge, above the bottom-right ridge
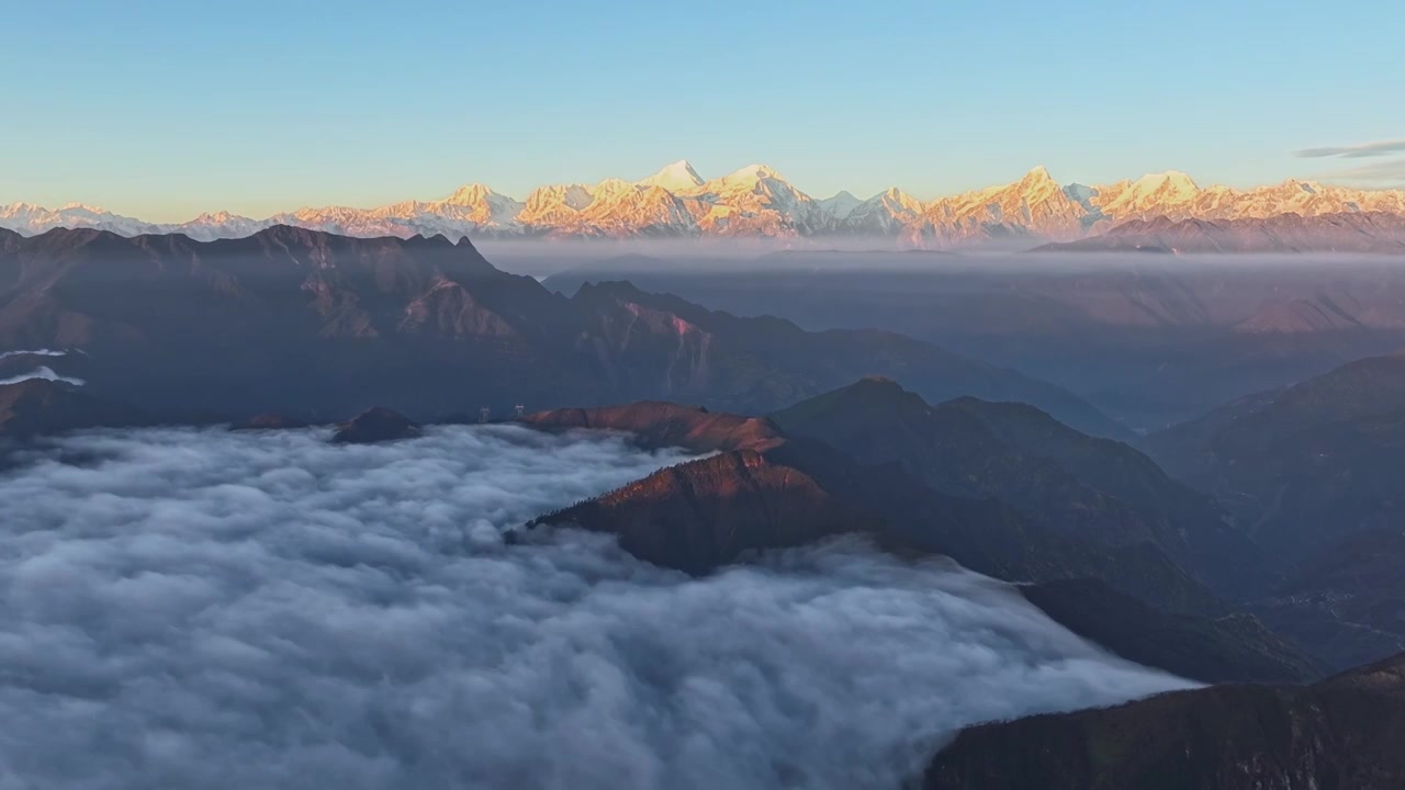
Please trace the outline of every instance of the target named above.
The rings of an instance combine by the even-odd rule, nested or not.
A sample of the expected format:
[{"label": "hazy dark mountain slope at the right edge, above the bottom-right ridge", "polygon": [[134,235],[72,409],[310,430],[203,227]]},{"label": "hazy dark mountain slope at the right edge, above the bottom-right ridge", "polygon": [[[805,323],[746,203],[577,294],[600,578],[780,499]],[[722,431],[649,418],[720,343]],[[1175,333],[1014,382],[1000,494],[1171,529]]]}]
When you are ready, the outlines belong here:
[{"label": "hazy dark mountain slope at the right edge, above the bottom-right ridge", "polygon": [[1405,648],[1405,356],[1229,403],[1142,444],[1283,575],[1255,609],[1338,668]]}]

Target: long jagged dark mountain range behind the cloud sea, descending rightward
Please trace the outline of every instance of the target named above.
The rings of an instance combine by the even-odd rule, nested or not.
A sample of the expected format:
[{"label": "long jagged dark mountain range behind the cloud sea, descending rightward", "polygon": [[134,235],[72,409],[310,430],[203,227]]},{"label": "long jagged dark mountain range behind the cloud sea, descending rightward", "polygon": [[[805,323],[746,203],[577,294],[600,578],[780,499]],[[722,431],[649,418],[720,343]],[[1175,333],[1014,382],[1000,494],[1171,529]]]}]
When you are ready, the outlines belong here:
[{"label": "long jagged dark mountain range behind the cloud sea, descending rightward", "polygon": [[80,347],[94,395],[330,420],[638,399],[763,413],[854,378],[1118,425],[1065,389],[887,332],[805,332],[627,283],[554,294],[468,240],[273,226],[242,239],[56,229],[0,246],[0,349]]}]

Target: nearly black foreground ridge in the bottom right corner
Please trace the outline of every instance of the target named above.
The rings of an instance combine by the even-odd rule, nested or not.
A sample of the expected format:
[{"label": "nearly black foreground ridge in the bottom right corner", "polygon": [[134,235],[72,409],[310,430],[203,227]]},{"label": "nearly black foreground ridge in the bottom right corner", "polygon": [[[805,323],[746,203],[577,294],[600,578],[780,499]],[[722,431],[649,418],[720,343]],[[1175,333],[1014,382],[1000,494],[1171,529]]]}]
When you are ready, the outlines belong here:
[{"label": "nearly black foreground ridge in the bottom right corner", "polygon": [[937,790],[1394,790],[1405,655],[1312,686],[1214,686],[962,731]]}]

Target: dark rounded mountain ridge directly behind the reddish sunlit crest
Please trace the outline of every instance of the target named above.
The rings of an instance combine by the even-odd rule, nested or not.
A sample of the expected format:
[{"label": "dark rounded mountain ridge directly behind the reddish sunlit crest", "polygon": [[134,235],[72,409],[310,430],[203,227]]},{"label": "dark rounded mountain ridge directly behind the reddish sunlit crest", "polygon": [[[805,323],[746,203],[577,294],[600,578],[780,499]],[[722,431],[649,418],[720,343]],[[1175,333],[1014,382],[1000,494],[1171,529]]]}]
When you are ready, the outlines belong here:
[{"label": "dark rounded mountain ridge directly behind the reddish sunlit crest", "polygon": [[774,415],[864,464],[899,464],[926,485],[999,498],[1062,537],[1118,550],[1149,544],[1238,595],[1253,581],[1255,545],[1214,502],[1151,458],[1093,439],[1021,403],[960,398],[937,406],[894,381],[865,378]]}]

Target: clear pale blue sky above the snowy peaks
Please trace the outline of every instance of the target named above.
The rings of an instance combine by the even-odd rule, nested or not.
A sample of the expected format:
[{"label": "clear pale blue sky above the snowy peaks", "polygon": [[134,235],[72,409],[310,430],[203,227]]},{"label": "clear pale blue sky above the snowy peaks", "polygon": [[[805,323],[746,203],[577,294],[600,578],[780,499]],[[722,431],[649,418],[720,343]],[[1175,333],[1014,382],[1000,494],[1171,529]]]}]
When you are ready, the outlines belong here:
[{"label": "clear pale blue sky above the snowy peaks", "polygon": [[1401,186],[1398,153],[1294,155],[1405,138],[1401,31],[1399,0],[11,3],[0,204],[264,216],[684,157],[821,197]]}]

